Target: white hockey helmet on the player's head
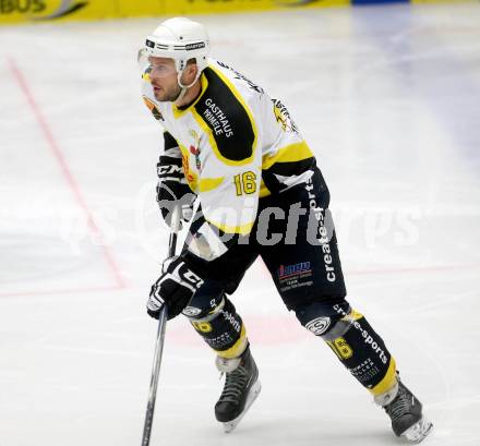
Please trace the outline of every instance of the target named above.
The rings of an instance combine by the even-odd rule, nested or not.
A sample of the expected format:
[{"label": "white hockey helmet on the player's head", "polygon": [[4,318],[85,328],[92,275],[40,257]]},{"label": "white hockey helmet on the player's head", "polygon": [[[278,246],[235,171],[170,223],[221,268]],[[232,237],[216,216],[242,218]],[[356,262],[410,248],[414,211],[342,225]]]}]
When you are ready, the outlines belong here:
[{"label": "white hockey helmet on the player's head", "polygon": [[[200,77],[208,64],[209,39],[205,27],[187,17],[169,19],[146,38],[145,47],[141,50],[143,57],[158,57],[173,59],[178,72],[178,80],[190,59],[196,60]],[[193,85],[193,84],[191,84]]]}]

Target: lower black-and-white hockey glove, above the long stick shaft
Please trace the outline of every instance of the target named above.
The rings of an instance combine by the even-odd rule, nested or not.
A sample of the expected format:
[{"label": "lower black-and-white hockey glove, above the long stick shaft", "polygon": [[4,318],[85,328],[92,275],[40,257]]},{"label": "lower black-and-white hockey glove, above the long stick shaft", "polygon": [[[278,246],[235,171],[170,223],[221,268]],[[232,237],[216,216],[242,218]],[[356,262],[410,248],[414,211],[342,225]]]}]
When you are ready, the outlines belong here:
[{"label": "lower black-and-white hockey glove, above the long stick shaft", "polygon": [[167,258],[161,266],[161,276],[152,287],[147,313],[158,318],[161,306],[167,304],[168,320],[178,316],[202,284],[203,279],[187,266],[182,257]]}]

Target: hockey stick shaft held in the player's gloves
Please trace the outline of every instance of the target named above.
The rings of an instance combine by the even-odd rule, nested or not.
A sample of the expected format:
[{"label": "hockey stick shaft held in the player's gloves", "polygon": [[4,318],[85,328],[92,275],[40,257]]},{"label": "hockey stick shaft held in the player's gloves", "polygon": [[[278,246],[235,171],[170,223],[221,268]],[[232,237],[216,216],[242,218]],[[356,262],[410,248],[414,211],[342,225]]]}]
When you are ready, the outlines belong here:
[{"label": "hockey stick shaft held in the player's gloves", "polygon": [[[171,215],[171,232],[168,242],[168,256],[172,257],[177,250],[177,233],[180,229],[180,208],[173,207]],[[143,426],[142,446],[149,445],[152,425],[154,422],[155,400],[157,398],[158,376],[160,374],[161,353],[164,351],[165,327],[167,325],[167,305],[161,306],[158,315],[157,341],[155,342],[154,365],[148,391],[148,402],[146,405],[145,424]]]}]

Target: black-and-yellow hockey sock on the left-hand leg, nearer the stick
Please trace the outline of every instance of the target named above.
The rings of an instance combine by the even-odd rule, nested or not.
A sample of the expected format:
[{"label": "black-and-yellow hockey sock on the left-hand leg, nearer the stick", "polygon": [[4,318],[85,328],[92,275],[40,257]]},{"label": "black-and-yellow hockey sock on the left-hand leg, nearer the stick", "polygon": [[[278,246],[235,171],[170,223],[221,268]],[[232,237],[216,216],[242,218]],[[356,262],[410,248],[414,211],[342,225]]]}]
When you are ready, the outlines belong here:
[{"label": "black-and-yellow hockey sock on the left-hand leg, nearer the stick", "polygon": [[248,346],[247,333],[240,315],[231,301],[224,296],[204,317],[189,317],[204,341],[225,359],[240,357]]}]

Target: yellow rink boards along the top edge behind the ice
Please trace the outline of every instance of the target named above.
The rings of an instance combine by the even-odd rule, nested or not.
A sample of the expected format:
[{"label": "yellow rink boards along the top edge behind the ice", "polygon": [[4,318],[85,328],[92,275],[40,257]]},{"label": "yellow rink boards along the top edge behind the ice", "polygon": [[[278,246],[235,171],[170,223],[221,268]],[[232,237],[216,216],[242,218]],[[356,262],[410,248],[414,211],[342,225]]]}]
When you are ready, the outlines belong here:
[{"label": "yellow rink boards along the top edge behind the ice", "polygon": [[[411,3],[460,1],[465,0],[410,0]],[[0,23],[187,15],[400,2],[408,2],[408,0],[0,0]]]}]

